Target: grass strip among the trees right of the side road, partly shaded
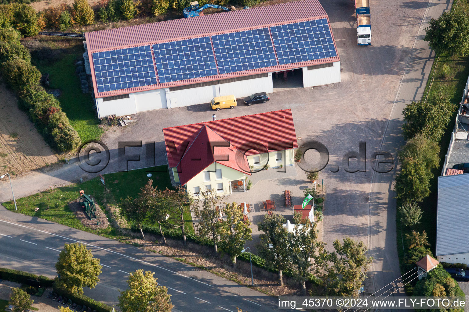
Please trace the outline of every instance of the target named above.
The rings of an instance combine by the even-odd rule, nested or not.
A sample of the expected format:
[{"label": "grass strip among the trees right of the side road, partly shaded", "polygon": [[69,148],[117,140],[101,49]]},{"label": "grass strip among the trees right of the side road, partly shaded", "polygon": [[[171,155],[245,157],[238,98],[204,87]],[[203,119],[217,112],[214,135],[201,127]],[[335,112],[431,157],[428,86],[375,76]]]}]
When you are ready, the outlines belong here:
[{"label": "grass strip among the trees right of the side road, partly shaded", "polygon": [[[454,1],[453,10],[464,11],[469,15],[469,0]],[[461,102],[462,90],[465,87],[469,75],[469,58],[468,57],[451,57],[448,55],[441,55],[438,62],[434,62],[431,72],[427,81],[427,86],[424,91],[424,98],[434,94],[445,94],[449,97],[450,101],[454,104]],[[431,82],[431,80],[433,80]],[[404,238],[404,248],[408,250],[408,242],[406,242],[405,234],[410,233],[412,229],[422,232],[423,230],[428,235],[428,242],[430,249],[435,253],[436,242],[436,217],[437,217],[437,199],[438,199],[438,177],[441,175],[443,162],[448,150],[449,141],[451,139],[451,132],[454,128],[454,118],[456,117],[456,110],[454,116],[448,123],[446,131],[440,141],[440,166],[432,171],[433,179],[430,181],[430,196],[426,197],[420,207],[423,210],[423,218],[421,223],[412,228],[403,228],[401,233],[401,216],[399,212],[396,217],[397,225],[397,250],[399,259],[402,261],[404,256],[401,234]],[[399,203],[398,203],[399,204]],[[404,272],[405,273],[405,272]]]}]

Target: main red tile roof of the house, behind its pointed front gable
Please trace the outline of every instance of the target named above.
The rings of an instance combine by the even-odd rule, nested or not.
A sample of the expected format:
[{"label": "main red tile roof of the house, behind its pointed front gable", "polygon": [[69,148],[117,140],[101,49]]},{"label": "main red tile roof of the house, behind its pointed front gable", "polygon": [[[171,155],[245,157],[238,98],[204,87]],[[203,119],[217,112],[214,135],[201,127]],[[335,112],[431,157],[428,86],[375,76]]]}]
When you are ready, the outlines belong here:
[{"label": "main red tile roof of the house, behind its pointed front gable", "polygon": [[[179,164],[186,150],[190,149],[198,133],[205,126],[241,152],[246,152],[247,148],[258,146],[259,143],[265,146],[265,150],[258,148],[259,152],[267,152],[266,149],[269,147],[269,142],[271,144],[272,142],[289,142],[293,143],[293,148],[298,148],[291,109],[282,109],[255,115],[164,128],[163,134],[165,136],[168,166],[170,168],[176,167]],[[277,145],[279,149],[281,149],[280,145]],[[249,147],[243,148],[243,146]],[[269,152],[272,151],[274,149],[269,150]],[[250,156],[259,152],[250,149],[245,154]]]}]

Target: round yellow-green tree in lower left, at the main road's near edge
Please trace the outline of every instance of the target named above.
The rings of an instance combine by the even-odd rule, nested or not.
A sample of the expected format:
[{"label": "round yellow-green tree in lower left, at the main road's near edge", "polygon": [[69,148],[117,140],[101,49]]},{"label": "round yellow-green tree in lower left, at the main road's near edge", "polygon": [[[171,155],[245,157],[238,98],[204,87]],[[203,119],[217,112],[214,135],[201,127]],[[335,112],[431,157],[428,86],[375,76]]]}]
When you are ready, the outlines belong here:
[{"label": "round yellow-green tree in lower left, at the main road's near edge", "polygon": [[95,288],[102,272],[99,259],[82,243],[65,244],[55,268],[57,286],[78,294],[83,294],[84,286]]}]

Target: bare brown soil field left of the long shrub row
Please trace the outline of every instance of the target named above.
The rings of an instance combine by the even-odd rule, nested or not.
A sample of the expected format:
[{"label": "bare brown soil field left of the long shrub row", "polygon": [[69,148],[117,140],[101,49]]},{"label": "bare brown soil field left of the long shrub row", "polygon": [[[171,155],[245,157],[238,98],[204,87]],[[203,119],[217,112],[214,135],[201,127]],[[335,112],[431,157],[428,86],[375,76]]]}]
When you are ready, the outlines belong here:
[{"label": "bare brown soil field left of the long shrub row", "polygon": [[0,97],[0,171],[24,174],[59,161],[4,85]]}]

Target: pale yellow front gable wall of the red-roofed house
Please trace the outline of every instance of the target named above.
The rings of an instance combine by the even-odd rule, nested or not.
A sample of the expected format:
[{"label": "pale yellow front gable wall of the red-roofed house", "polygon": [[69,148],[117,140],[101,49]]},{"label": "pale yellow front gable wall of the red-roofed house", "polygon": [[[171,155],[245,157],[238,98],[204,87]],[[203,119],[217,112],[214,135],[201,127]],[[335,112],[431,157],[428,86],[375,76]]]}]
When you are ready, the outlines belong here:
[{"label": "pale yellow front gable wall of the red-roofed house", "polygon": [[[217,189],[217,183],[223,183],[223,192],[220,193],[230,193],[230,181],[242,180],[247,174],[242,173],[241,171],[234,170],[233,168],[227,167],[225,165],[216,164],[217,169],[221,169],[222,178],[217,180],[215,175],[215,163],[205,168],[202,172],[193,177],[189,182],[186,183],[187,191],[190,194],[194,194],[194,187],[200,187],[200,191],[204,191],[206,185],[212,185],[212,189]],[[210,181],[204,181],[204,172],[212,171],[210,173]]]}]

